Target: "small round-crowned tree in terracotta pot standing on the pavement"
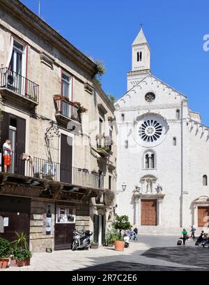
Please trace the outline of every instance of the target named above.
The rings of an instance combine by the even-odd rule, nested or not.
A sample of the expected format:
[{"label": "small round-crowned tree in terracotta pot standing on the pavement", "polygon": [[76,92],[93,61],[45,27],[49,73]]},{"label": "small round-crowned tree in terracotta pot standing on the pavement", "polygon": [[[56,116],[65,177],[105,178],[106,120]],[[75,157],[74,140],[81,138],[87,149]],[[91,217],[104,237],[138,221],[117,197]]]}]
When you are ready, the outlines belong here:
[{"label": "small round-crowned tree in terracotta pot standing on the pavement", "polygon": [[128,217],[126,215],[116,216],[116,220],[112,223],[113,228],[119,230],[119,238],[115,240],[115,250],[123,251],[125,247],[125,242],[121,237],[121,231],[126,231],[131,228],[130,221],[128,221]]}]

